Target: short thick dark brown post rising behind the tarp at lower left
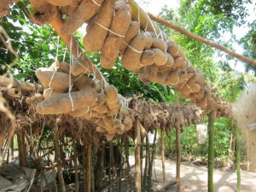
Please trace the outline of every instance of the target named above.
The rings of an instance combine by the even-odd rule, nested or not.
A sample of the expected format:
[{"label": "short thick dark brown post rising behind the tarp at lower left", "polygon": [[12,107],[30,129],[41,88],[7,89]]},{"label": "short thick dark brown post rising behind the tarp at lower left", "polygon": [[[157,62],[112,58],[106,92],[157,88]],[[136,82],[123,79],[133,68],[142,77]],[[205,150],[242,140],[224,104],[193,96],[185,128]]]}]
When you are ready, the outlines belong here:
[{"label": "short thick dark brown post rising behind the tarp at lower left", "polygon": [[17,132],[20,166],[27,166],[25,134],[22,130]]}]

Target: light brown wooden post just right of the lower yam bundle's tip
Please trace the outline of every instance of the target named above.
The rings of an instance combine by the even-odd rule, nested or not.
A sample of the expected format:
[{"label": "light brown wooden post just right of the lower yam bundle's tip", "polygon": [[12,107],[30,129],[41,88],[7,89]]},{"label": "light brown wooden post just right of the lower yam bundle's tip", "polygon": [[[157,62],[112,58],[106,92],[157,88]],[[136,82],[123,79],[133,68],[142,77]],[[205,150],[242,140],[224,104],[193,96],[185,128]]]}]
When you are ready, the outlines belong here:
[{"label": "light brown wooden post just right of the lower yam bundle's tip", "polygon": [[135,125],[135,191],[142,191],[142,181],[141,181],[141,160],[140,160],[140,150],[141,150],[141,134],[140,134],[140,126],[138,125],[138,121]]}]

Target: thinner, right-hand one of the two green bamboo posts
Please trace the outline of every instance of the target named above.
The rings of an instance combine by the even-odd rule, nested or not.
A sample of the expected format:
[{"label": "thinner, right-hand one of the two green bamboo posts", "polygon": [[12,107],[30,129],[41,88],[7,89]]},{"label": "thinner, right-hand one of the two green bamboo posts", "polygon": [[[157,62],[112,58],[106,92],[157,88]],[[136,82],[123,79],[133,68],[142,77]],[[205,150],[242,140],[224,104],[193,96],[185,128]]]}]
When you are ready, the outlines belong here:
[{"label": "thinner, right-hand one of the two green bamboo posts", "polygon": [[236,183],[236,192],[240,192],[241,190],[241,134],[238,125],[236,124],[236,175],[237,175],[237,183]]}]

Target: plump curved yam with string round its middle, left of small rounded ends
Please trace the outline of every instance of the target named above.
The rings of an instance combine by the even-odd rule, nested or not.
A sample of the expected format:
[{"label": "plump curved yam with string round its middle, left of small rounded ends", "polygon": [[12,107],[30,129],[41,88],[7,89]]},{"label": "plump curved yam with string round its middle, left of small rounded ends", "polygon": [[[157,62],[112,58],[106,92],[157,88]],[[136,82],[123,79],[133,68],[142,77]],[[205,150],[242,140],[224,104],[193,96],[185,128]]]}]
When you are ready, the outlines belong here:
[{"label": "plump curved yam with string round its middle, left of small rounded ends", "polygon": [[137,34],[137,36],[132,39],[130,47],[125,50],[123,55],[123,67],[130,71],[135,71],[142,68],[139,63],[143,49],[145,49],[148,44],[152,44],[152,38],[150,34],[147,32]]}]

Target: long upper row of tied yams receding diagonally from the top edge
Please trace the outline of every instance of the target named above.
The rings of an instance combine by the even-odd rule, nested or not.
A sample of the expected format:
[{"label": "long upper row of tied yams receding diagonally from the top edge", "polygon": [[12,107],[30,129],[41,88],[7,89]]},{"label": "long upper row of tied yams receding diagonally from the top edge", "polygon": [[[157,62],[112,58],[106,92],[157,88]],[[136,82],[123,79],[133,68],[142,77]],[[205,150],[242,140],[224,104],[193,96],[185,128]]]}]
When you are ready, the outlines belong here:
[{"label": "long upper row of tied yams receding diagonally from the top edge", "polygon": [[61,13],[68,15],[61,29],[63,34],[71,35],[79,26],[88,24],[84,48],[102,52],[102,67],[113,67],[115,59],[122,55],[123,66],[137,73],[144,84],[175,86],[183,98],[190,98],[205,113],[215,111],[218,116],[229,116],[230,105],[205,82],[201,69],[189,63],[181,47],[170,41],[166,33],[140,30],[139,23],[131,20],[131,6],[125,1],[44,1],[59,6]]}]

